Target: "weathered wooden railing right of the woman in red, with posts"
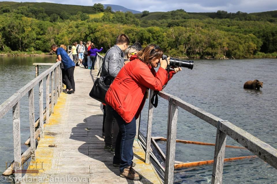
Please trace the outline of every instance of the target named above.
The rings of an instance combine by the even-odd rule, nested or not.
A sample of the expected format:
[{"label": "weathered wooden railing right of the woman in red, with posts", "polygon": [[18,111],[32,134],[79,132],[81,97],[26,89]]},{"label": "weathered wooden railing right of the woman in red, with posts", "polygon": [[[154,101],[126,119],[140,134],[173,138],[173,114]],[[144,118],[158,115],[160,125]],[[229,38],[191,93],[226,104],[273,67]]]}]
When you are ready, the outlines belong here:
[{"label": "weathered wooden railing right of the woman in red, with posts", "polygon": [[[152,96],[153,90],[150,90],[149,98],[151,99]],[[208,112],[205,112],[202,109],[197,108],[178,97],[163,91],[159,92],[159,96],[169,101],[164,183],[173,183],[178,107],[190,112],[191,114],[203,119],[207,123],[217,128],[212,184],[222,183],[227,135],[277,169],[277,150],[274,147],[233,125],[231,122],[222,120]],[[145,163],[149,163],[152,117],[153,105],[149,100]]]}]

